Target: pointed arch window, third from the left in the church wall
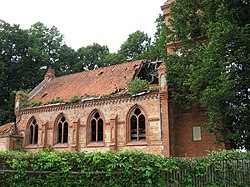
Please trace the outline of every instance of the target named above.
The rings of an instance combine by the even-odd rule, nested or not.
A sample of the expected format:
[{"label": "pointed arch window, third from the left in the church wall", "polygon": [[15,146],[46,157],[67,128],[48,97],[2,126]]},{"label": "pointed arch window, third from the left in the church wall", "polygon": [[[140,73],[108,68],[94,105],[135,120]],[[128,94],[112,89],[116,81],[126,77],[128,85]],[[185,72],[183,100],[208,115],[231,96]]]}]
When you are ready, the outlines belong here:
[{"label": "pointed arch window, third from the left in the church wall", "polygon": [[98,112],[90,121],[90,142],[103,142],[103,119]]}]

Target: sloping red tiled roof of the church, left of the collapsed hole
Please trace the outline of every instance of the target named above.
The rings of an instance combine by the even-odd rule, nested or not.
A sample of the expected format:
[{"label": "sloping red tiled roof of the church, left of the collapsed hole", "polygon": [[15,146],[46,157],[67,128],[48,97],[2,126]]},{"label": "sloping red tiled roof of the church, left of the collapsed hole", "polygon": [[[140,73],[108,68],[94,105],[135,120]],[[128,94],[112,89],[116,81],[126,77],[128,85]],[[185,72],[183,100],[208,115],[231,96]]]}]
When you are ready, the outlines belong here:
[{"label": "sloping red tiled roof of the church, left of the collapsed hole", "polygon": [[93,95],[104,96],[113,93],[125,93],[127,91],[126,82],[134,77],[142,63],[142,60],[138,60],[56,77],[50,81],[45,80],[40,83],[41,88],[36,87],[37,91],[34,92],[34,89],[31,92],[32,98],[30,101],[39,100],[45,104],[58,97],[68,101],[72,96],[86,98]]}]

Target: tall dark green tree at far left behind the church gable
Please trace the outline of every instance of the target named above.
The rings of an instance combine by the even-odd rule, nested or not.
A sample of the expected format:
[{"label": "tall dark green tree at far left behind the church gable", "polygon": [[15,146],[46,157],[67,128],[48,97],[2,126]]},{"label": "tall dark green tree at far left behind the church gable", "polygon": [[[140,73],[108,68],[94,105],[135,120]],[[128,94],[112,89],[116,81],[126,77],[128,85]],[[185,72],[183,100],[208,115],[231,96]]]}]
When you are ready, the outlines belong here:
[{"label": "tall dark green tree at far left behind the church gable", "polygon": [[39,22],[23,30],[0,20],[0,31],[0,124],[3,124],[14,121],[14,91],[34,88],[43,79],[44,66],[55,69],[58,75],[72,72],[69,69],[77,58],[73,58],[73,49],[63,45],[63,36],[56,27],[48,28]]}]

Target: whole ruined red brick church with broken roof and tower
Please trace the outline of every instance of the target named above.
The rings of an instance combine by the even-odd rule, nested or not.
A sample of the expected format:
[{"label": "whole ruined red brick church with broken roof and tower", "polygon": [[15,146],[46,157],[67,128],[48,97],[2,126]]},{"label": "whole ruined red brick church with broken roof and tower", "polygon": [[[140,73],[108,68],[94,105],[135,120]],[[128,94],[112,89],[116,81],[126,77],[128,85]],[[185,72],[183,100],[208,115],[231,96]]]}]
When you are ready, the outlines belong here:
[{"label": "whole ruined red brick church with broken roof and tower", "polygon": [[[162,6],[168,25],[169,3]],[[167,44],[168,52],[171,44]],[[173,108],[162,62],[138,60],[56,77],[51,69],[24,98],[17,94],[16,122],[0,127],[0,150],[139,150],[166,157],[204,156],[225,149],[215,144],[198,106]],[[148,88],[130,94],[127,82],[138,77]],[[24,102],[39,106],[21,107]]]}]

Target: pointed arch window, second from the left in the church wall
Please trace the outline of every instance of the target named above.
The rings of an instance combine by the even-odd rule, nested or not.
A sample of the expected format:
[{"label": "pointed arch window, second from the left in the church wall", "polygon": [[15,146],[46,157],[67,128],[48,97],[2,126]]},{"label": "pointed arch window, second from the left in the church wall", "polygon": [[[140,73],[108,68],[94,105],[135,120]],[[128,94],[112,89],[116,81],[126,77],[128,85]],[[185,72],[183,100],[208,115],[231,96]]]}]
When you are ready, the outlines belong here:
[{"label": "pointed arch window, second from the left in the church wall", "polygon": [[57,143],[68,143],[68,122],[62,115],[57,122]]}]

